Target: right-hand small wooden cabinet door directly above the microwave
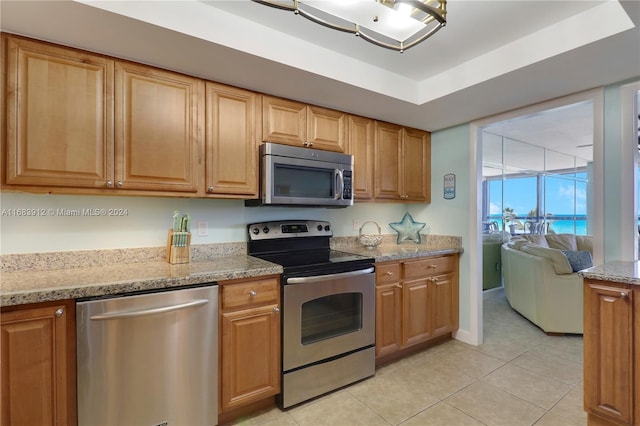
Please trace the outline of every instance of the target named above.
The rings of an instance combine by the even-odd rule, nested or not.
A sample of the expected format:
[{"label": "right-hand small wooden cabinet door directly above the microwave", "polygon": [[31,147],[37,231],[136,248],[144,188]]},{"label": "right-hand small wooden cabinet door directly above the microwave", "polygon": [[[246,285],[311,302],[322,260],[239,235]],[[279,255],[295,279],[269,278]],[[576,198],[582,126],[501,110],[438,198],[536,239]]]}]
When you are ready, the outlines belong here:
[{"label": "right-hand small wooden cabinet door directly above the microwave", "polygon": [[317,106],[307,107],[307,144],[310,148],[345,152],[348,115]]}]

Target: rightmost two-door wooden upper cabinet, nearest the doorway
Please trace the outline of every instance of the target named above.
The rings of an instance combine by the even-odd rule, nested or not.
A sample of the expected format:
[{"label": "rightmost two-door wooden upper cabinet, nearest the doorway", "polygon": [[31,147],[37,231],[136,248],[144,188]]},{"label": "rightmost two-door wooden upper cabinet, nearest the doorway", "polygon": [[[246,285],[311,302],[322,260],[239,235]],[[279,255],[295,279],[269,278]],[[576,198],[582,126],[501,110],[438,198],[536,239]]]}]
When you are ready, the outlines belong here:
[{"label": "rightmost two-door wooden upper cabinet, nearest the doorway", "polygon": [[431,137],[429,132],[376,122],[375,198],[431,201]]}]

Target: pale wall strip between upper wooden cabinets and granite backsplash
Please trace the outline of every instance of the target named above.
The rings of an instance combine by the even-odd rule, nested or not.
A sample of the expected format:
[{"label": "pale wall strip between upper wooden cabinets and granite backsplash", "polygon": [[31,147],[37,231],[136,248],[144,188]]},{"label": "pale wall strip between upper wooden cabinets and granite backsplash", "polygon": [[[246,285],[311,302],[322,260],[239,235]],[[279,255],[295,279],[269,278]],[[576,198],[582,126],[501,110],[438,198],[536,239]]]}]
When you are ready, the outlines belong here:
[{"label": "pale wall strip between upper wooden cabinets and granite backsplash", "polygon": [[[402,219],[403,204],[356,204],[345,209],[244,207],[239,200],[161,197],[40,195],[0,193],[0,254],[158,247],[166,244],[174,210],[189,213],[192,244],[246,241],[246,225],[278,219],[319,219],[332,223],[336,236],[357,235],[353,221],[374,220],[383,233]],[[65,216],[62,211],[125,210],[122,216]],[[44,213],[46,216],[15,216]],[[421,216],[416,220],[430,222]],[[208,236],[198,236],[198,222]]]}]

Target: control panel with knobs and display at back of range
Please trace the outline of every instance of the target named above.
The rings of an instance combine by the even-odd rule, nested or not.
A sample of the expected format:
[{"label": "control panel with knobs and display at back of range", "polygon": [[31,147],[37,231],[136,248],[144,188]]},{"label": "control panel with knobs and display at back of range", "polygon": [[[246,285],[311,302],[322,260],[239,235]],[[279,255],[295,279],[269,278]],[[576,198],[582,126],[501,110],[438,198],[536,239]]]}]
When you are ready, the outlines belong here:
[{"label": "control panel with knobs and display at back of range", "polygon": [[331,224],[318,220],[282,220],[252,223],[247,226],[247,229],[250,240],[333,236]]}]

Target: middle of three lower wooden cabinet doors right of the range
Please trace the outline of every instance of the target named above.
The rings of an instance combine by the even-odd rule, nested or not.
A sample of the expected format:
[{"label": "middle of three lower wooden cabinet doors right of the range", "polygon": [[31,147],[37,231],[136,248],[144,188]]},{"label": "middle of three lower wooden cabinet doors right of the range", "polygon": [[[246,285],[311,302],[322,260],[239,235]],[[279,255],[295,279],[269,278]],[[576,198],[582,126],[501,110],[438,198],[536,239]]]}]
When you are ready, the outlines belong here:
[{"label": "middle of three lower wooden cabinet doors right of the range", "polygon": [[429,340],[433,336],[431,286],[428,278],[404,281],[402,284],[403,346]]}]

